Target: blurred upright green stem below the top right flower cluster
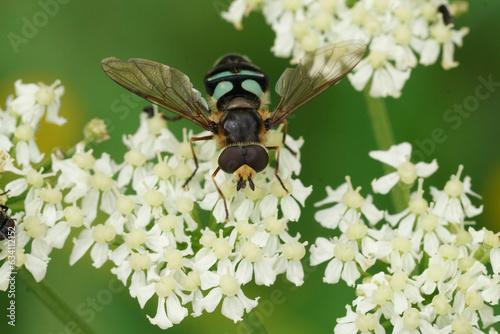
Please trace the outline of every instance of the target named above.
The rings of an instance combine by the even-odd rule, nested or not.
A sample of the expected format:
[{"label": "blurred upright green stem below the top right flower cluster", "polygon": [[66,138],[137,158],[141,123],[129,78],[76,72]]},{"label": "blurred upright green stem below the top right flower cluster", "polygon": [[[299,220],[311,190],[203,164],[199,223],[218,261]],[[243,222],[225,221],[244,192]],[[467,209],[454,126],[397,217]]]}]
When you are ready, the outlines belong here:
[{"label": "blurred upright green stem below the top right flower cluster", "polygon": [[[392,145],[395,145],[394,133],[392,132],[391,122],[385,101],[382,98],[374,98],[370,96],[369,85],[364,89],[366,106],[370,121],[372,124],[375,141],[379,150],[388,150]],[[392,173],[394,168],[389,165],[383,165],[386,173]],[[401,186],[393,187],[391,190],[392,203],[397,212],[401,212],[408,205],[409,189],[403,189]]]}]

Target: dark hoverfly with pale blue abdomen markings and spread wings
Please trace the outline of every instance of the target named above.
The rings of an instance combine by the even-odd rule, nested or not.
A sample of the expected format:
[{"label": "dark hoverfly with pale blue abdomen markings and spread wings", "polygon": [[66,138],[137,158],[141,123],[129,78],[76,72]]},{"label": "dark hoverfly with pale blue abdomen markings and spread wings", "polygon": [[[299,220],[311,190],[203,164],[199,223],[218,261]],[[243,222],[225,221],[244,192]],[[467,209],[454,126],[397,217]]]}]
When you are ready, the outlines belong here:
[{"label": "dark hoverfly with pale blue abdomen markings and spread wings", "polygon": [[104,59],[102,67],[111,79],[131,92],[212,132],[209,136],[190,139],[195,170],[183,187],[198,169],[193,142],[215,139],[221,152],[212,180],[224,201],[227,221],[226,198],[215,182],[217,173],[222,169],[233,174],[237,190],[245,188],[247,183],[254,190],[252,178],[267,167],[268,150],[276,150],[274,174],[288,192],[278,175],[279,147],[266,146],[267,132],[284,124],[284,144],[286,117],[349,73],[365,52],[364,42],[351,40],[307,54],[295,68],[287,68],[276,83],[281,101],[272,113],[267,106],[268,76],[240,55],[221,58],[204,77],[205,89],[213,102],[211,109],[189,78],[175,68],[146,59],[122,61],[114,57]]}]

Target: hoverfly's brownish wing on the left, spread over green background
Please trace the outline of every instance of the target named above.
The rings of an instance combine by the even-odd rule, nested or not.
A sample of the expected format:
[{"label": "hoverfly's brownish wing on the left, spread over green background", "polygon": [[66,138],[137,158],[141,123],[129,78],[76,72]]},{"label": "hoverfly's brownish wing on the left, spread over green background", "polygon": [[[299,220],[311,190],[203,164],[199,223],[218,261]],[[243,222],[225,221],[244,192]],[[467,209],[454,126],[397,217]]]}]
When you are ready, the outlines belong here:
[{"label": "hoverfly's brownish wing on the left, spread over green background", "polygon": [[216,124],[209,119],[207,102],[181,71],[140,58],[122,61],[110,57],[101,65],[111,79],[129,91],[206,130],[216,131]]}]

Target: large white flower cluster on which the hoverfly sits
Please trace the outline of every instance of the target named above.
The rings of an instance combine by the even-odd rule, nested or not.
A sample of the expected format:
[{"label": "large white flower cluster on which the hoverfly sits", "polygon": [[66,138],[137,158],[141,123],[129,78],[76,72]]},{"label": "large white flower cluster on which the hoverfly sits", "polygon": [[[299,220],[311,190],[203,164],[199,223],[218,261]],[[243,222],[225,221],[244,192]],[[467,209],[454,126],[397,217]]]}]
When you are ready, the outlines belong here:
[{"label": "large white flower cluster on which the hoverfly sits", "polygon": [[[8,190],[7,205],[24,207],[9,213],[16,220],[17,267],[42,280],[51,251],[75,235],[70,264],[89,251],[96,268],[112,261],[112,273],[141,307],[157,300],[157,314],[149,319],[163,329],[188,314],[212,312],[221,302],[224,316],[241,320],[257,305],[258,298],[243,292],[252,280],[269,286],[286,273],[294,284],[303,283],[306,243],[288,233],[288,223],[299,219],[311,187],[294,179],[301,168],[296,155],[281,150],[279,174],[289,193],[271,166],[253,179],[255,191],[236,192],[232,175],[219,173],[216,181],[230,213],[225,222],[211,178],[218,155],[214,141],[196,143],[199,170],[182,189],[195,168],[188,134],[177,140],[157,110],[153,116],[141,113],[138,131],[124,136],[128,151],[122,163],[107,153],[94,156],[88,139],[42,162],[34,136],[45,112],[47,121],[63,123],[57,116],[63,92],[58,84],[16,82],[17,97],[9,97],[0,111],[2,180],[11,180],[0,188]],[[89,123],[87,138],[105,138],[102,125]],[[269,145],[281,144],[280,131],[270,131]],[[295,152],[302,144],[287,137]],[[0,260],[7,256],[4,240]],[[0,266],[1,290],[11,269],[6,261]]]}]

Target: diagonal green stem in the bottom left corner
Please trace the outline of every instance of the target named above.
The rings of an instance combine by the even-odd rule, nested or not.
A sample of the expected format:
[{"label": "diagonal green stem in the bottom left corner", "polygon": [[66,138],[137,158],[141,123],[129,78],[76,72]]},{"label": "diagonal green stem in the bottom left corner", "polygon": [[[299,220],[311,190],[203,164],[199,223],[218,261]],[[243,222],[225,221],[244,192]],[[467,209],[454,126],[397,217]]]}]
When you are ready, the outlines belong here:
[{"label": "diagonal green stem in the bottom left corner", "polygon": [[80,318],[64,300],[44,281],[36,282],[30,272],[25,268],[20,268],[17,272],[19,278],[28,286],[36,297],[51,310],[63,324],[72,324],[75,332],[82,334],[94,333],[89,325]]}]

